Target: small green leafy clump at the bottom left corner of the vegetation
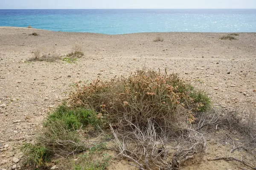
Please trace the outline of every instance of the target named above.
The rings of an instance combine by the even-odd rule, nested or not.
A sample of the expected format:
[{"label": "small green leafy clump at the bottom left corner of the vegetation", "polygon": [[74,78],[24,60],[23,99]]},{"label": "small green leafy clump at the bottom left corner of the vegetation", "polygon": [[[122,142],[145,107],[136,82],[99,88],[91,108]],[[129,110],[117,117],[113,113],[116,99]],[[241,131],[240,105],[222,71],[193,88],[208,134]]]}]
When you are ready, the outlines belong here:
[{"label": "small green leafy clump at the bottom left corner of the vegetation", "polygon": [[50,151],[41,144],[24,143],[20,149],[25,155],[25,163],[31,163],[35,168],[43,167],[51,156]]}]

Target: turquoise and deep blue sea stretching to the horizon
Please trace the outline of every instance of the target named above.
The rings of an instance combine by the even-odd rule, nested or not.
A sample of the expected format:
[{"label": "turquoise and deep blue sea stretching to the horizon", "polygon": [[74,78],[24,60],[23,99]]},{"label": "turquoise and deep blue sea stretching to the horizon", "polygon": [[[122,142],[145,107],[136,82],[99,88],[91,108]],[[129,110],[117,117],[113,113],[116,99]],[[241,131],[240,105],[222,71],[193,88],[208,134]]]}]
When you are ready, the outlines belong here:
[{"label": "turquoise and deep blue sea stretching to the horizon", "polygon": [[256,9],[0,9],[0,26],[102,34],[256,32]]}]

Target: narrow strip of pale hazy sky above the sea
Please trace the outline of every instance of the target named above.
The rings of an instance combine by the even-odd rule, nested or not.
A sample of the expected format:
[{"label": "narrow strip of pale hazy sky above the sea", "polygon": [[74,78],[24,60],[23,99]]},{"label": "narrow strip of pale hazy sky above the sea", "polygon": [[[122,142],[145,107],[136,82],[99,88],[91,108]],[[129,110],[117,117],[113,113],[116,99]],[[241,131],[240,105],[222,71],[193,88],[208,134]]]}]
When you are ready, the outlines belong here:
[{"label": "narrow strip of pale hazy sky above the sea", "polygon": [[256,8],[256,0],[0,0],[0,9]]}]

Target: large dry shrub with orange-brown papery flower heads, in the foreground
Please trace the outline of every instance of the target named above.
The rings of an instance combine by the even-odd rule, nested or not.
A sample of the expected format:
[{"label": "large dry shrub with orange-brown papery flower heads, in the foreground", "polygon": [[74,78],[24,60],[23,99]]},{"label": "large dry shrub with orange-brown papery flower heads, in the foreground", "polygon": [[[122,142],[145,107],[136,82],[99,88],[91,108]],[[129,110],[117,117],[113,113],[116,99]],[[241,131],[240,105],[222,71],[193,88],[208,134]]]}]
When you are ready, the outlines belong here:
[{"label": "large dry shrub with orange-brown papery flower heads, in the foreground", "polygon": [[209,97],[195,90],[176,74],[137,71],[130,77],[96,80],[78,88],[71,96],[73,107],[84,107],[108,116],[111,123],[125,127],[128,122],[146,127],[149,120],[158,126],[194,121],[193,112],[205,111]]}]

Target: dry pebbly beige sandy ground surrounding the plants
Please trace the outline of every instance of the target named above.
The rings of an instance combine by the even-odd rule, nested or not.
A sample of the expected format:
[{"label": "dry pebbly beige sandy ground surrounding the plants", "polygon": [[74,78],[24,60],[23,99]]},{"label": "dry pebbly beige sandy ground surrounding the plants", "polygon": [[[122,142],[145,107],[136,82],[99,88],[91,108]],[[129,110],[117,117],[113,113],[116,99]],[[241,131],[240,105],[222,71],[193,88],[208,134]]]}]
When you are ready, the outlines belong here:
[{"label": "dry pebbly beige sandy ground surrounding the plants", "polygon": [[[39,36],[29,35],[32,32]],[[9,170],[14,164],[17,169],[20,167],[22,153],[18,146],[33,140],[35,128],[41,126],[47,112],[67,98],[79,81],[127,76],[144,67],[162,71],[166,68],[206,89],[214,105],[256,107],[256,33],[239,33],[235,36],[238,40],[232,41],[220,40],[224,35],[227,34],[105,35],[0,27],[0,169]],[[153,42],[157,36],[164,41]],[[64,55],[70,53],[74,44],[81,44],[85,54],[76,63],[25,62],[36,49],[45,53],[55,49]],[[220,138],[218,133],[215,134]],[[214,137],[207,139],[209,156],[228,156],[233,148],[232,141],[220,143],[219,147],[216,144]],[[234,152],[234,156],[240,158],[240,152]],[[249,157],[243,155],[244,160]],[[190,162],[183,169],[247,169],[237,162],[200,162]],[[134,168],[120,161],[110,169]]]}]

